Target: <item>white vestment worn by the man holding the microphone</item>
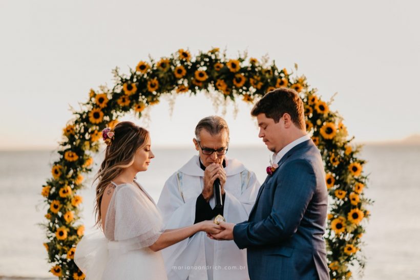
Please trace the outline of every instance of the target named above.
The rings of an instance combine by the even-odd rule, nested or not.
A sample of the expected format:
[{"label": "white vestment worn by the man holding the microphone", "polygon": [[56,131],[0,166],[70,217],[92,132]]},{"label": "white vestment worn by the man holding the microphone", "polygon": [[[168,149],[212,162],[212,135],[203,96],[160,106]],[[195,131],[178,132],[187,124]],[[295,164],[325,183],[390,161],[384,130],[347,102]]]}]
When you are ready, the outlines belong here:
[{"label": "white vestment worn by the man holding the microphone", "polygon": [[[260,184],[255,174],[238,160],[225,161],[223,217],[226,222],[240,223],[248,220]],[[194,224],[203,176],[199,157],[194,156],[166,181],[157,204],[166,229]],[[215,207],[214,198],[210,205]],[[163,249],[162,255],[170,280],[249,279],[246,249],[240,250],[233,240],[211,240],[205,232]]]}]

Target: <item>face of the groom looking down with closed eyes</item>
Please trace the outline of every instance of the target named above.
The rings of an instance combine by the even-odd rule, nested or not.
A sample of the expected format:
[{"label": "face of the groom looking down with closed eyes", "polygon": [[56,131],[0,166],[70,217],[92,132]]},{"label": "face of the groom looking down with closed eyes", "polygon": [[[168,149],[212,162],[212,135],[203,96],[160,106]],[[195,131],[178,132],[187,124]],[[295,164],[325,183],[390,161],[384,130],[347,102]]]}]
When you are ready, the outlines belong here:
[{"label": "face of the groom looking down with closed eyes", "polygon": [[276,123],[274,119],[267,118],[265,114],[257,115],[258,126],[260,133],[258,137],[262,138],[267,148],[273,152],[278,153],[284,147],[284,125],[282,118]]}]

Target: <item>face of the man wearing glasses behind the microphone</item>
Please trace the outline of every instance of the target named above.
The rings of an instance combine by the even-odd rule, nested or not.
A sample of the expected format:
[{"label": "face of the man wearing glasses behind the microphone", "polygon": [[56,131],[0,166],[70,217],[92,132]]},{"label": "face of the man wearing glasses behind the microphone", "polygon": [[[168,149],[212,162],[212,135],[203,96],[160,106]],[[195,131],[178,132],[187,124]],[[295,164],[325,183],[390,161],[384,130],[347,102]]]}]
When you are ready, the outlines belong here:
[{"label": "face of the man wearing glasses behind the microphone", "polygon": [[[200,131],[200,145],[201,148],[210,148],[210,149],[225,149],[227,148],[227,144],[229,141],[229,137],[227,135],[226,131],[222,131],[219,135],[211,135],[206,130]],[[208,165],[212,163],[222,163],[224,160],[225,155],[217,155],[216,152],[214,152],[211,155],[204,155],[203,150],[200,148],[199,143],[196,141],[196,139],[193,139],[194,145],[196,150],[200,153],[200,160],[201,163],[207,167]]]}]

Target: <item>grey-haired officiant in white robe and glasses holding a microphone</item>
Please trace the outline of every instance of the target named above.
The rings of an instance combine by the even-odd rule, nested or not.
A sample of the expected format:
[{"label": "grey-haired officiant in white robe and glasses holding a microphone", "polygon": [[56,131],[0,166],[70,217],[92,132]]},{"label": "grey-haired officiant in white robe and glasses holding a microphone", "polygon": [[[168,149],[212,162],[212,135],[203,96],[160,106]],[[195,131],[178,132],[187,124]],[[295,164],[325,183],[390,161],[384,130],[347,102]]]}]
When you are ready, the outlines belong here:
[{"label": "grey-haired officiant in white robe and glasses holding a microphone", "polygon": [[[229,142],[226,121],[218,116],[203,118],[196,126],[193,142],[199,155],[167,179],[157,204],[165,228],[184,227],[219,215],[230,223],[247,220],[260,184],[241,162],[225,157]],[[215,199],[215,181],[220,182],[220,194],[216,188],[219,199]],[[170,280],[249,279],[246,250],[238,249],[233,241],[211,240],[205,232],[162,250],[162,254]]]}]

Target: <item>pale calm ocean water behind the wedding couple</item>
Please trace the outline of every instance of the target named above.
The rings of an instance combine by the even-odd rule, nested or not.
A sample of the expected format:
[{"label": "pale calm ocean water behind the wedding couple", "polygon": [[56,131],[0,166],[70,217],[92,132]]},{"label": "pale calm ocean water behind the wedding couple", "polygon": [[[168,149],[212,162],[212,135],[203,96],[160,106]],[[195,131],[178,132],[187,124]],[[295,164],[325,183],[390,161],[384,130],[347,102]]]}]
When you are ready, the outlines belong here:
[{"label": "pale calm ocean water behind the wedding couple", "polygon": [[[197,152],[191,148],[154,148],[149,170],[138,181],[158,200],[165,180]],[[270,153],[264,147],[229,147],[227,157],[237,158],[255,171],[262,183]],[[51,176],[57,157],[48,150],[0,152],[0,279],[52,278],[43,246],[47,207],[41,185]],[[103,154],[95,156],[100,163]],[[363,236],[364,275],[355,279],[420,279],[420,145],[366,145],[360,155],[368,162],[367,197],[375,201]],[[93,230],[94,174],[87,177],[83,196],[83,222]]]}]

